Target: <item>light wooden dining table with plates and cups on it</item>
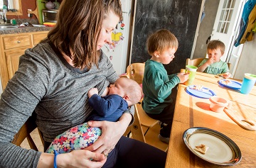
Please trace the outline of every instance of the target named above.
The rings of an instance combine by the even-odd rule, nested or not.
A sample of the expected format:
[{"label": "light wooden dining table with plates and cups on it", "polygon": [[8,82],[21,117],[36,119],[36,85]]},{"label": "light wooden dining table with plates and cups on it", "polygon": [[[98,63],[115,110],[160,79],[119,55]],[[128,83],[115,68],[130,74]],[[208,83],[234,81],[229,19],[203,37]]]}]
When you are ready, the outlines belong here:
[{"label": "light wooden dining table with plates and cups on it", "polygon": [[[241,94],[240,91],[220,86],[218,80],[220,79],[212,74],[197,72],[193,84],[203,84],[215,91],[217,96],[233,101],[232,108],[237,109],[245,118],[252,117],[256,125],[256,86],[250,94],[246,95]],[[240,127],[224,111],[221,113],[210,111],[209,99],[191,96],[186,93],[186,85],[179,84],[166,168],[223,167],[206,162],[188,150],[183,142],[183,133],[186,129],[193,127],[217,130],[238,145],[242,160],[232,167],[256,167],[256,131]]]}]

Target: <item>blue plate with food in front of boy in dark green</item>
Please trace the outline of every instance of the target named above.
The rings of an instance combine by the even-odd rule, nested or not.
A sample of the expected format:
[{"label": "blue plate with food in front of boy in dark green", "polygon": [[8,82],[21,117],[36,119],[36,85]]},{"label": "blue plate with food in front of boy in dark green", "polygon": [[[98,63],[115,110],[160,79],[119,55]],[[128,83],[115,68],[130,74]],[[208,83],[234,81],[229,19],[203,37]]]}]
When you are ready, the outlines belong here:
[{"label": "blue plate with food in front of boy in dark green", "polygon": [[216,94],[212,90],[206,87],[203,87],[201,90],[193,89],[194,87],[195,85],[187,86],[187,93],[203,99],[209,99],[211,96],[216,96]]}]

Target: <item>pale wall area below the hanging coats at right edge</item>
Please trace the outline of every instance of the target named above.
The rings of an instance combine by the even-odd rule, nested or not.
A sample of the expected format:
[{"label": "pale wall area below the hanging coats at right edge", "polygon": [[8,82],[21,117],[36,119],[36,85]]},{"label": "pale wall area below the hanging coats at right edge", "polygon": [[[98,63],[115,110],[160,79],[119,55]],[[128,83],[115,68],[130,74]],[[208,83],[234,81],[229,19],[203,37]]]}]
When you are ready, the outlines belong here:
[{"label": "pale wall area below the hanging coats at right edge", "polygon": [[256,74],[256,35],[252,41],[247,41],[240,55],[238,67],[235,71],[235,79],[243,79],[245,73]]}]

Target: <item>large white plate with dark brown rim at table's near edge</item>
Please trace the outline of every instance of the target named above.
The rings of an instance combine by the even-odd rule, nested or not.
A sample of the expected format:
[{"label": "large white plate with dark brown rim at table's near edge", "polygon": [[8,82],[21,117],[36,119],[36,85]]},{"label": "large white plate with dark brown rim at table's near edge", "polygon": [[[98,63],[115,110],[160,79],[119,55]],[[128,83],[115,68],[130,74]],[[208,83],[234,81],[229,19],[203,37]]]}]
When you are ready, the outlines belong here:
[{"label": "large white plate with dark brown rim at table's near edge", "polygon": [[[208,162],[218,165],[238,164],[242,159],[238,145],[230,138],[209,128],[189,128],[183,133],[183,142],[193,154]],[[206,154],[194,150],[198,145],[206,145]]]}]

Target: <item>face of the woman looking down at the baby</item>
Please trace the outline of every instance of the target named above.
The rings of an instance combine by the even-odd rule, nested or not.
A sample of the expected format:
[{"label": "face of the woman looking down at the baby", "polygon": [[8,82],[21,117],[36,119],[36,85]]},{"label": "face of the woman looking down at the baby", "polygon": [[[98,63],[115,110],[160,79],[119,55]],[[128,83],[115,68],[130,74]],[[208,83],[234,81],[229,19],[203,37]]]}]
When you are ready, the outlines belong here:
[{"label": "face of the woman looking down at the baby", "polygon": [[103,21],[102,32],[97,42],[97,50],[100,50],[100,48],[105,45],[105,43],[112,43],[112,31],[117,26],[118,22],[119,17],[114,13],[110,12],[107,18],[105,18],[105,20]]}]

